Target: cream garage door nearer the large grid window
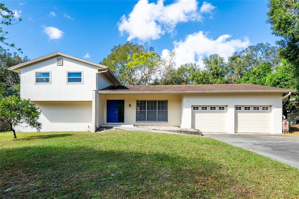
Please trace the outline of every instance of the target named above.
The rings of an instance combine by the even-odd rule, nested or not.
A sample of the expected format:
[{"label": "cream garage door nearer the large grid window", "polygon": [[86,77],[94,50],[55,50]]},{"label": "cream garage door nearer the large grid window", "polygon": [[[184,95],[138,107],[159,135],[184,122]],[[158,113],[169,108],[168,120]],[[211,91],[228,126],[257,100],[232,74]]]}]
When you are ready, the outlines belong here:
[{"label": "cream garage door nearer the large grid window", "polygon": [[226,132],[226,106],[192,106],[191,126],[202,132]]}]

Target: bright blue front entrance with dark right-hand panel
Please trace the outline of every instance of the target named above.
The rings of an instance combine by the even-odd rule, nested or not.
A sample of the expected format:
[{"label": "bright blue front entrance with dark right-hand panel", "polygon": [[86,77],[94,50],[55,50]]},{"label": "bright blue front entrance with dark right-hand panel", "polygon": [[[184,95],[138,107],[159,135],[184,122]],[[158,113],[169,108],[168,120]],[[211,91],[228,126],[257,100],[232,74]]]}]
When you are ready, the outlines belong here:
[{"label": "bright blue front entrance with dark right-hand panel", "polygon": [[107,100],[107,123],[124,122],[124,100]]}]

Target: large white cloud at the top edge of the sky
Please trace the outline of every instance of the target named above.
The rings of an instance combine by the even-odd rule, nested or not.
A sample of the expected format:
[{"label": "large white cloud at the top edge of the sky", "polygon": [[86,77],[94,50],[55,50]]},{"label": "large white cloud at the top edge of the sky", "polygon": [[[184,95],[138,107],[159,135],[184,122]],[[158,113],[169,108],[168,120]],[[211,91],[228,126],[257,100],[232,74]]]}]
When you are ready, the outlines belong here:
[{"label": "large white cloud at the top edge of the sky", "polygon": [[159,39],[165,32],[173,33],[180,22],[202,20],[197,4],[196,0],[177,0],[164,6],[163,0],[157,3],[140,0],[127,17],[120,18],[118,30],[121,35],[124,32],[129,34],[128,41]]}]

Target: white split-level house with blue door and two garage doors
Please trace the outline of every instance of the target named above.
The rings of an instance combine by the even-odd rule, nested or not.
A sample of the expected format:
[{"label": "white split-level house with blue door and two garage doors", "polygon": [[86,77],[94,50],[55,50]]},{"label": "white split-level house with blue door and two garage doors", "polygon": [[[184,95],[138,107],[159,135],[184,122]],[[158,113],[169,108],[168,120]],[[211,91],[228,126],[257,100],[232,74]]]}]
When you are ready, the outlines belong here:
[{"label": "white split-level house with blue door and two garage doors", "polygon": [[124,86],[106,66],[59,52],[10,70],[21,75],[21,97],[42,110],[42,131],[139,124],[281,133],[282,94],[295,91],[252,84]]}]

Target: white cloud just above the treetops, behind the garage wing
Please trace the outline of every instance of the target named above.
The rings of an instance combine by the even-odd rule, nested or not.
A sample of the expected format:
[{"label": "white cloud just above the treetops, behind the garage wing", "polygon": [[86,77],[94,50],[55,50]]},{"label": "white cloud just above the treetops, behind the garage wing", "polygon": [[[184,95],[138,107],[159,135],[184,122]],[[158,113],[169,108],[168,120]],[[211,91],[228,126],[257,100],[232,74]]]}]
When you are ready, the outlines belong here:
[{"label": "white cloud just above the treetops, behind the garage wing", "polygon": [[[226,60],[235,51],[246,48],[250,45],[249,39],[230,39],[231,35],[224,34],[216,40],[208,38],[202,31],[186,36],[185,40],[173,42],[173,50],[176,52],[176,64],[180,66],[185,63],[197,63],[201,68],[204,67],[202,59],[211,54],[219,54]],[[166,57],[170,50],[162,50],[161,56]]]}]

